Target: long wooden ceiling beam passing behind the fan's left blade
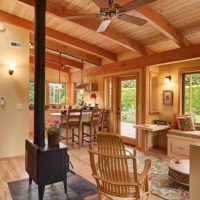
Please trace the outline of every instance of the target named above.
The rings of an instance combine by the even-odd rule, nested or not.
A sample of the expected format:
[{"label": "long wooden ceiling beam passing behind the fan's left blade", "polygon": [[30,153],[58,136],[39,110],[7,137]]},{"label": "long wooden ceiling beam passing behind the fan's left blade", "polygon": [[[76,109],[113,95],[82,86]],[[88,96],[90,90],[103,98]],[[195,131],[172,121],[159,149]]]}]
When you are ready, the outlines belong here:
[{"label": "long wooden ceiling beam passing behind the fan's left blade", "polygon": [[[33,6],[34,5],[34,0],[18,0],[20,2],[26,3],[28,5]],[[74,12],[68,8],[62,7],[56,3],[53,3],[51,1],[47,1],[47,12],[54,14],[58,17],[66,17],[66,16],[71,16],[71,15],[78,15],[79,13]],[[97,28],[99,27],[99,22],[91,19],[73,19],[70,20],[76,24],[79,24],[83,27],[86,27],[90,30],[96,31]],[[141,43],[133,40],[132,38],[129,38],[120,32],[117,32],[111,28],[107,28],[107,30],[103,33],[97,33],[97,34],[103,34],[106,36],[109,40],[112,40],[113,42],[129,49],[132,51],[137,51],[141,55],[147,55],[149,53],[154,53],[153,50],[146,48],[144,45]]]}]

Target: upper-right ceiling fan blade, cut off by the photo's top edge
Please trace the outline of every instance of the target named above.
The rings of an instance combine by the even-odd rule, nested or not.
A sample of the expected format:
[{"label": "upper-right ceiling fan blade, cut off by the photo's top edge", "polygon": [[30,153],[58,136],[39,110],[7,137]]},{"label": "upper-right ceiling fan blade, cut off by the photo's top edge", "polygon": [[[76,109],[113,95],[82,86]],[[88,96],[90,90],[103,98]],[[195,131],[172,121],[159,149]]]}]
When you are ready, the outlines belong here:
[{"label": "upper-right ceiling fan blade, cut off by the photo's top edge", "polygon": [[156,0],[133,0],[130,3],[127,3],[121,7],[122,12],[128,12],[130,10],[142,7],[146,4],[152,3]]}]

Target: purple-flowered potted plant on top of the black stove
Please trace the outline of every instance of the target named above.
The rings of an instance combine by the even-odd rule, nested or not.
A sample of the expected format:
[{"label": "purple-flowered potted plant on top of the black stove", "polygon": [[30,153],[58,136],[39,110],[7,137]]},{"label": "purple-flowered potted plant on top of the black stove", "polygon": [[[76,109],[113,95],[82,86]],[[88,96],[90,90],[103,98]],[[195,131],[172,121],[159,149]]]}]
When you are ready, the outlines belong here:
[{"label": "purple-flowered potted plant on top of the black stove", "polygon": [[[48,120],[50,122],[50,120]],[[47,128],[48,135],[48,145],[55,146],[60,142],[60,135],[63,132],[61,126],[61,122],[59,120],[54,120],[53,124],[50,124]]]}]

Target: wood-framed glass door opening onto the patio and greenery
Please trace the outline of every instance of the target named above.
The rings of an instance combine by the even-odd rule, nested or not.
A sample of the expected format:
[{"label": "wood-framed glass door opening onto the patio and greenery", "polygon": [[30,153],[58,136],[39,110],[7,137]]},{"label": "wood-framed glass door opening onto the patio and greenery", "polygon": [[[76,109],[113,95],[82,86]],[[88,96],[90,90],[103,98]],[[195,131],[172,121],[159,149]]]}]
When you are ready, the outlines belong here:
[{"label": "wood-framed glass door opening onto the patio and greenery", "polygon": [[137,79],[127,77],[118,79],[118,132],[124,142],[136,145],[136,129],[133,125],[137,120]]}]

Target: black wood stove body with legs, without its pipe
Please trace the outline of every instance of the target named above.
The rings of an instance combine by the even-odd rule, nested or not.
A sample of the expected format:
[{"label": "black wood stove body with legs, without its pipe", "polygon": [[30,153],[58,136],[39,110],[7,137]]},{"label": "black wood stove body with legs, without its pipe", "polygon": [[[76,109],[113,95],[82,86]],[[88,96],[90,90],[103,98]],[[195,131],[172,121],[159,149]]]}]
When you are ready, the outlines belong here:
[{"label": "black wood stove body with legs, without its pipe", "polygon": [[39,200],[43,199],[45,185],[63,181],[67,193],[67,171],[69,171],[69,156],[67,146],[44,147],[26,140],[25,169],[29,174],[29,184],[32,180],[38,185]]}]

